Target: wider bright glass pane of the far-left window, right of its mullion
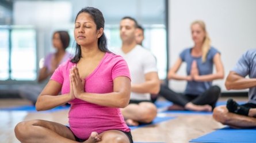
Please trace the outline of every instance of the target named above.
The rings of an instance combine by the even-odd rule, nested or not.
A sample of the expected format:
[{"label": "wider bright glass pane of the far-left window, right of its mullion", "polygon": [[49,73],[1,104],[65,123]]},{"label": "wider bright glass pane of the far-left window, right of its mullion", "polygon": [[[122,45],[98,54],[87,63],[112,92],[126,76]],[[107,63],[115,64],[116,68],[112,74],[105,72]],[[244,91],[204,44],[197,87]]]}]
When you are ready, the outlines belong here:
[{"label": "wider bright glass pane of the far-left window, right of its mullion", "polygon": [[11,34],[11,79],[36,79],[36,31],[13,29]]}]

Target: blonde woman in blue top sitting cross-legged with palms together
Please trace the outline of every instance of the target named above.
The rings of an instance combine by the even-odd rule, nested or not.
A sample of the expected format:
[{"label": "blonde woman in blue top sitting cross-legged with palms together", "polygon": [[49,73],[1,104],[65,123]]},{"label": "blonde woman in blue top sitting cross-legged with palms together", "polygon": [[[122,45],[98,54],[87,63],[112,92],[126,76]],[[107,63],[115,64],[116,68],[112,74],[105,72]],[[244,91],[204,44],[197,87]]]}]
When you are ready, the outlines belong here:
[{"label": "blonde woman in blue top sitting cross-legged with palms together", "polygon": [[[194,46],[185,49],[170,68],[167,78],[186,80],[186,90],[180,95],[162,85],[160,95],[174,103],[169,110],[212,111],[220,95],[220,88],[212,86],[212,81],[224,78],[224,68],[220,52],[211,47],[203,21],[194,21],[191,25]],[[186,74],[178,75],[181,64],[186,63]],[[213,65],[216,73],[213,74]]]}]

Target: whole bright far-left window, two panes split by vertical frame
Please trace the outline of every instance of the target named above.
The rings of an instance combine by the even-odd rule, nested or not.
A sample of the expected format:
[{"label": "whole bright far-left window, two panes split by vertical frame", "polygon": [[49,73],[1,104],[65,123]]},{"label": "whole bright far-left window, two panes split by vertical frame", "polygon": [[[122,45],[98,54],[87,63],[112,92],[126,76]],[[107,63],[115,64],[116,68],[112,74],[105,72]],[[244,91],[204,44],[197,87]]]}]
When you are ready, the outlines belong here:
[{"label": "whole bright far-left window, two panes split by vertical frame", "polygon": [[35,80],[36,30],[0,29],[0,80]]}]

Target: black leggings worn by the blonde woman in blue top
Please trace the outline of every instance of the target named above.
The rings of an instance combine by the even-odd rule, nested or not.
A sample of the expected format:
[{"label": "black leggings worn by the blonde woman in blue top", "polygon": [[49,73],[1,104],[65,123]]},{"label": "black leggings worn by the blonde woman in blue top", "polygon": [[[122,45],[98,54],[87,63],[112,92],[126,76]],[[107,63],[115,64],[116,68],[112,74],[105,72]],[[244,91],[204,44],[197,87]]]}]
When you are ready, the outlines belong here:
[{"label": "black leggings worn by the blonde woman in blue top", "polygon": [[210,105],[212,109],[215,107],[220,96],[220,87],[211,86],[207,91],[200,95],[193,94],[178,94],[169,87],[161,84],[159,95],[163,96],[167,101],[173,102],[175,105],[185,107],[189,102],[194,105]]}]

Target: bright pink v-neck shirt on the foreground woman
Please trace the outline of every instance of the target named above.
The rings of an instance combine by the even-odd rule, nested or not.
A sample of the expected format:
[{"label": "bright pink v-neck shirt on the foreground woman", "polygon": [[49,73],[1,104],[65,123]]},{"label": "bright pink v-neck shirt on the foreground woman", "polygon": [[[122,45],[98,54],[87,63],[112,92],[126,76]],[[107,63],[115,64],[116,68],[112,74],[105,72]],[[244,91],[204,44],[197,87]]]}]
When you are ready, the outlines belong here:
[{"label": "bright pink v-neck shirt on the foreground woman", "polygon": [[[68,60],[60,65],[51,77],[51,80],[62,84],[62,94],[70,92],[70,69],[75,63]],[[85,91],[104,94],[113,92],[113,80],[118,76],[127,76],[128,65],[123,57],[106,52],[100,64],[85,79]],[[119,102],[119,101],[116,101]],[[74,99],[68,113],[69,125],[78,138],[86,140],[91,132],[102,133],[106,130],[123,130],[129,132],[124,117],[119,108],[95,105],[80,99]]]}]

